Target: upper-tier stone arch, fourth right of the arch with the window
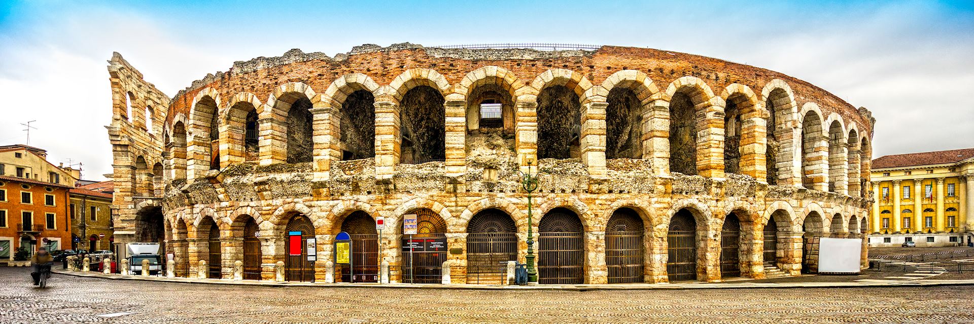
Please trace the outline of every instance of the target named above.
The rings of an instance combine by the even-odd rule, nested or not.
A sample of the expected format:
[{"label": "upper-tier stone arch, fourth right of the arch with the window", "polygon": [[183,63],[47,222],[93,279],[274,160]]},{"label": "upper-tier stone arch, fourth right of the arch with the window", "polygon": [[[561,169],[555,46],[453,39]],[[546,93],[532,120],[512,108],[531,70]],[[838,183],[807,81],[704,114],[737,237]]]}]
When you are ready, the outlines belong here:
[{"label": "upper-tier stone arch, fourth right of the arch with the window", "polygon": [[731,84],[721,92],[724,108],[724,168],[726,172],[767,179],[765,155],[768,113],[747,86]]}]

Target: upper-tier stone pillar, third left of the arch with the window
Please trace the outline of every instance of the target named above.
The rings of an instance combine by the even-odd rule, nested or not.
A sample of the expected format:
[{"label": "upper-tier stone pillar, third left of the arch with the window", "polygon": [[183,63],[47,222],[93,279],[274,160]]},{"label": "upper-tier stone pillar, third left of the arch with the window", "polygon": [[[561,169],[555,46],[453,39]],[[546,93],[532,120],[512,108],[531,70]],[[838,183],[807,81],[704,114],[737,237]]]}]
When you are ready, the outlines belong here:
[{"label": "upper-tier stone pillar, third left of the arch with the window", "polygon": [[[312,114],[314,181],[328,180],[331,162],[342,160],[339,109],[340,107],[332,107],[327,102],[318,101],[315,103],[315,108],[309,110]],[[327,196],[326,193],[322,194]]]}]

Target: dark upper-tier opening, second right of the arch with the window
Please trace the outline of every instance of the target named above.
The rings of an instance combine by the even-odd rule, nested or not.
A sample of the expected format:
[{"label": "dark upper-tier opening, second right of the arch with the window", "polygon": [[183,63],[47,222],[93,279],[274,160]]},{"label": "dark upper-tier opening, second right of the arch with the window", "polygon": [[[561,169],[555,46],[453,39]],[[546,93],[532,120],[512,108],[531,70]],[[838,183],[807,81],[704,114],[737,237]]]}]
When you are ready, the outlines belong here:
[{"label": "dark upper-tier opening, second right of the arch with the window", "polygon": [[643,111],[636,93],[614,88],[606,102],[606,159],[642,159]]}]

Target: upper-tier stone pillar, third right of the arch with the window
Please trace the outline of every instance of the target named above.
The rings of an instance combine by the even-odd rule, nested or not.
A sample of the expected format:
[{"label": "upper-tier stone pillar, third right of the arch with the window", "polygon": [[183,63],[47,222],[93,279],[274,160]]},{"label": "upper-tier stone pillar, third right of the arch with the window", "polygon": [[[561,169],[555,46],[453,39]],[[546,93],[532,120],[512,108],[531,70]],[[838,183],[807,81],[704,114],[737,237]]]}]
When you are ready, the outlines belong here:
[{"label": "upper-tier stone pillar, third right of the arch with the window", "polygon": [[650,160],[653,174],[669,176],[669,102],[655,100],[643,109],[643,159]]}]

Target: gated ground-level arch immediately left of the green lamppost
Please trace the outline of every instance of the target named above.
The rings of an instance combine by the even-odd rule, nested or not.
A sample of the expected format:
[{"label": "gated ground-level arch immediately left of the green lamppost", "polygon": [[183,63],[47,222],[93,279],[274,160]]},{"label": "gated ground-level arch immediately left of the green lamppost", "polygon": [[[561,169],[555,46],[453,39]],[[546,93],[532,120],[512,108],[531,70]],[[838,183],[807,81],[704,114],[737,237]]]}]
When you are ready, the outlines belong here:
[{"label": "gated ground-level arch immediately left of the green lamppost", "polygon": [[517,261],[514,220],[501,209],[484,209],[470,218],[467,233],[467,282],[504,284],[501,265]]}]

